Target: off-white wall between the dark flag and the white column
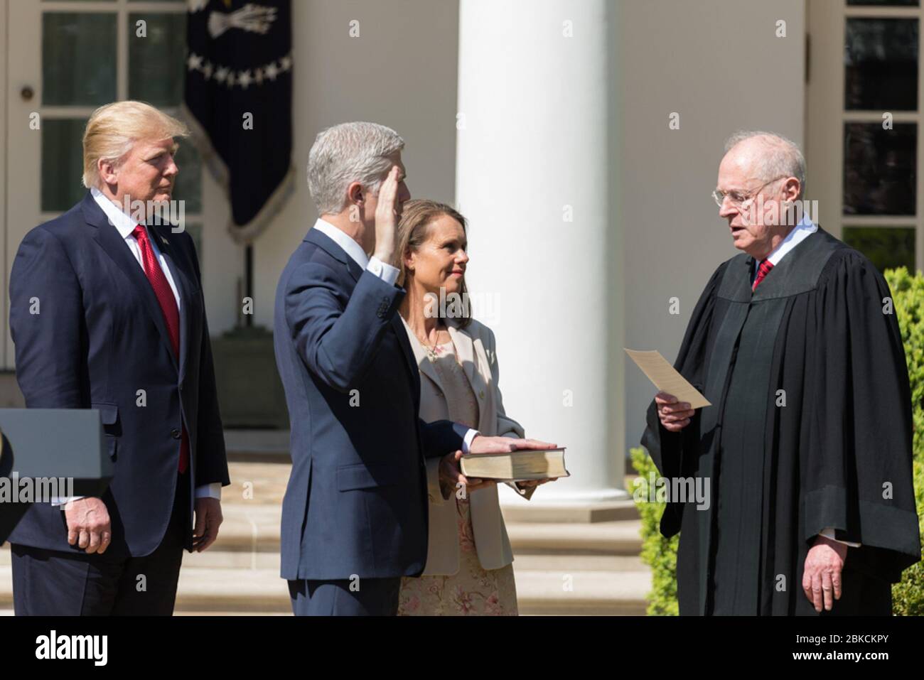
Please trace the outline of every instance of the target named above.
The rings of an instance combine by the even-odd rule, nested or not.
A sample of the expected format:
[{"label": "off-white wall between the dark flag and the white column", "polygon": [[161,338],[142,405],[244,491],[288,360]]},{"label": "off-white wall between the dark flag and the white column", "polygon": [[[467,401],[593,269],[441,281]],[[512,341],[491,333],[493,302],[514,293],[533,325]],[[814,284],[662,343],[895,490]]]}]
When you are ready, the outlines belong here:
[{"label": "off-white wall between the dark flag and the white column", "polygon": [[[254,318],[270,328],[279,274],[317,218],[305,166],[323,128],[349,120],[395,128],[407,142],[403,160],[415,197],[452,202],[456,182],[456,0],[292,5],[297,188],[254,249]],[[353,19],[359,38],[349,37]]]}]

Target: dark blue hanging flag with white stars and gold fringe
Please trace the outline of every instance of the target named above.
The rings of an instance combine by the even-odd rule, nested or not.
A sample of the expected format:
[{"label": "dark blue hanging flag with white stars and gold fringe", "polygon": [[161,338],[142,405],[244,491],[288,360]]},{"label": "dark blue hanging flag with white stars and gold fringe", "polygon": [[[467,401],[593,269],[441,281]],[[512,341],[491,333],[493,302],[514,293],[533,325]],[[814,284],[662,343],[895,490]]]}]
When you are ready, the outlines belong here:
[{"label": "dark blue hanging flag with white stars and gold fringe", "polygon": [[186,117],[238,242],[292,193],[291,18],[290,0],[188,0]]}]

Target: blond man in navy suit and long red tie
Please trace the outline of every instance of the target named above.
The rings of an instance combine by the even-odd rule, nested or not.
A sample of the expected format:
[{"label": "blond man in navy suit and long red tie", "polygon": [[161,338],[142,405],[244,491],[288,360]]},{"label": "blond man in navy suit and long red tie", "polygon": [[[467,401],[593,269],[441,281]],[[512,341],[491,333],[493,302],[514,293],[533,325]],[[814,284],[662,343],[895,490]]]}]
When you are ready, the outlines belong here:
[{"label": "blond man in navy suit and long red tie", "polygon": [[91,190],[13,262],[26,406],[99,409],[115,461],[102,498],[36,504],[9,537],[17,614],[173,613],[183,549],[218,534],[229,480],[199,262],[185,231],[137,210],[171,199],[186,135],[145,103],[97,109]]}]

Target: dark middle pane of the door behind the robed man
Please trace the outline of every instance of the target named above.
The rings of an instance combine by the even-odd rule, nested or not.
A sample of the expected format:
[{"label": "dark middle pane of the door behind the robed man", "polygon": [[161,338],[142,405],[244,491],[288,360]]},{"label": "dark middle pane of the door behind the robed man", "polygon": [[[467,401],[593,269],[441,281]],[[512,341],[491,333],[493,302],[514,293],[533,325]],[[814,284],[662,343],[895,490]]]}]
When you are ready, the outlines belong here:
[{"label": "dark middle pane of the door behind the robed man", "polygon": [[844,214],[915,214],[917,148],[917,123],[845,123]]}]

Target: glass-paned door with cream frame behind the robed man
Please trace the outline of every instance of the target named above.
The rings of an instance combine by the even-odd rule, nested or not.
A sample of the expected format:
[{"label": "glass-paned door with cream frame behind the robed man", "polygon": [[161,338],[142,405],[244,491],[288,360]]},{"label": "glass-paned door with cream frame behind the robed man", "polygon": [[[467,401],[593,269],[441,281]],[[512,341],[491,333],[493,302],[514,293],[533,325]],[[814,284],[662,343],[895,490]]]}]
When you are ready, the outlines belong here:
[{"label": "glass-paned door with cream frame behind the robed man", "polygon": [[880,269],[924,266],[920,0],[809,0],[807,192]]}]

